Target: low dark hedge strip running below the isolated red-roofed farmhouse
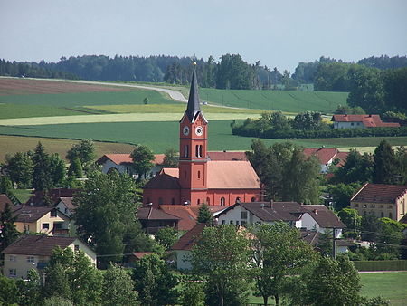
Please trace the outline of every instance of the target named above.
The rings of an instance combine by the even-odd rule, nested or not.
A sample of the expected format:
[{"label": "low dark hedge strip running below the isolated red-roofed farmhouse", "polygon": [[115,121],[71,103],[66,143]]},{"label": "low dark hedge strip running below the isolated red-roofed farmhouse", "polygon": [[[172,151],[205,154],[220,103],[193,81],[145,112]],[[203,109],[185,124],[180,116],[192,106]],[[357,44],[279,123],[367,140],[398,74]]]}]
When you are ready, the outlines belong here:
[{"label": "low dark hedge strip running below the isolated red-roofed farmhouse", "polygon": [[407,136],[407,127],[368,128],[368,129],[312,129],[312,130],[276,130],[259,129],[255,125],[241,125],[232,128],[233,135],[250,136],[264,139],[332,139],[343,137],[384,137]]}]

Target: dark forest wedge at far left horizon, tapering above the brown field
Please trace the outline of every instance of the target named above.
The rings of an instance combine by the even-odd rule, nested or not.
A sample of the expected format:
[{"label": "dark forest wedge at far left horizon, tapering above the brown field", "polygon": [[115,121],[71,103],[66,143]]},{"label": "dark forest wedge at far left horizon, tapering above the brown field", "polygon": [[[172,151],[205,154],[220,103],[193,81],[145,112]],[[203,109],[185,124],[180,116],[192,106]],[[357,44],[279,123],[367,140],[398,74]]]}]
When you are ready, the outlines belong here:
[{"label": "dark forest wedge at far left horizon, tapering above the brown field", "polygon": [[45,62],[9,62],[0,60],[0,75],[11,77],[79,79],[74,73],[62,72],[48,67]]}]

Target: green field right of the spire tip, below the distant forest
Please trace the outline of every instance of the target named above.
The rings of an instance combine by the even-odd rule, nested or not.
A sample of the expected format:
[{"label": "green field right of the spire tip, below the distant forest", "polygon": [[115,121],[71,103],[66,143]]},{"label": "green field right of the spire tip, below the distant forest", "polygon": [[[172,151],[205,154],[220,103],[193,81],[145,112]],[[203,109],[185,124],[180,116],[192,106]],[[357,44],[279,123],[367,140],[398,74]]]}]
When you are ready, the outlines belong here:
[{"label": "green field right of the spire tip, below the distant forest", "polygon": [[224,106],[298,113],[306,110],[333,113],[345,105],[347,92],[326,91],[237,91],[200,89],[201,100]]}]

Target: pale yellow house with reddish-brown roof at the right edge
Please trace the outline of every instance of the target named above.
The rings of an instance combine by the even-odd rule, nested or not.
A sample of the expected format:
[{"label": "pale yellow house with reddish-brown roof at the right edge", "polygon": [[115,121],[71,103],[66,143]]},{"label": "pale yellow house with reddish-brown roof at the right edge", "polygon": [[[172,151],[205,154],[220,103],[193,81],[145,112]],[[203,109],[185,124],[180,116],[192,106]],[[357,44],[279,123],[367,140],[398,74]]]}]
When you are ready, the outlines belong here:
[{"label": "pale yellow house with reddish-brown roof at the right edge", "polygon": [[378,218],[400,221],[407,214],[407,186],[367,183],[350,202],[359,215],[372,213]]}]

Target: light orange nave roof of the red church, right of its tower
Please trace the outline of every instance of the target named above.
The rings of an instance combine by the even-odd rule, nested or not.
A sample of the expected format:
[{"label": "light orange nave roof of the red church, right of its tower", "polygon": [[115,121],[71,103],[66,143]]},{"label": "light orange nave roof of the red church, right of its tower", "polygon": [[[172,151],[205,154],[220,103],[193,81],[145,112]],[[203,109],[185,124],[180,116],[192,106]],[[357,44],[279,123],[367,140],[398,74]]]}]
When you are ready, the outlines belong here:
[{"label": "light orange nave roof of the red church, right of its tower", "polygon": [[260,189],[260,179],[249,161],[211,160],[207,173],[208,189]]}]

